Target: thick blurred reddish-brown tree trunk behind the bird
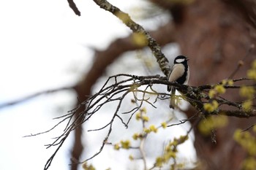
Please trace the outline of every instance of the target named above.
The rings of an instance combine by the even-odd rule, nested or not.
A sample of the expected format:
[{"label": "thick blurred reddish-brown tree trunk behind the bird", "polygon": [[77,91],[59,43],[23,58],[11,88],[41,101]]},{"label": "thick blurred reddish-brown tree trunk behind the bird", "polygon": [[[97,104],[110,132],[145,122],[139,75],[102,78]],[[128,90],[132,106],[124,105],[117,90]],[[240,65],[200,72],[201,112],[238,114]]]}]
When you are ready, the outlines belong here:
[{"label": "thick blurred reddish-brown tree trunk behind the bird", "polygon": [[[190,85],[219,82],[236,69],[249,47],[255,44],[255,28],[247,22],[243,12],[223,1],[195,1],[184,7],[181,23],[176,24],[176,41],[181,53],[191,60]],[[235,77],[244,77],[255,50],[246,58]],[[239,95],[229,93],[227,98],[238,100]],[[241,169],[245,152],[233,141],[236,128],[246,128],[255,119],[229,118],[226,128],[217,131],[217,144],[209,136],[202,136],[195,130],[195,148],[203,166],[200,169]]]}]

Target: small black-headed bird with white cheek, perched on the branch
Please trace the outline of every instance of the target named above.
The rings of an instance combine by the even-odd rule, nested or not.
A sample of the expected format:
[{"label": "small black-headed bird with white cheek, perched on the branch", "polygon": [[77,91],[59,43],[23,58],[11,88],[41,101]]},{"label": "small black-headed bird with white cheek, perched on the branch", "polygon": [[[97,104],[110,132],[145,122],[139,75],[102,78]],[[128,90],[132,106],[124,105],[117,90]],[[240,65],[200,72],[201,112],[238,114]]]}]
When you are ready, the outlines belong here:
[{"label": "small black-headed bird with white cheek, perched on the branch", "polygon": [[[187,61],[189,61],[189,59],[184,55],[178,55],[174,59],[173,67],[168,77],[169,82],[178,82],[181,85],[187,85],[187,82],[189,81],[189,65],[187,64]],[[170,108],[174,109],[176,88],[174,86],[168,86],[167,90],[171,91]]]}]

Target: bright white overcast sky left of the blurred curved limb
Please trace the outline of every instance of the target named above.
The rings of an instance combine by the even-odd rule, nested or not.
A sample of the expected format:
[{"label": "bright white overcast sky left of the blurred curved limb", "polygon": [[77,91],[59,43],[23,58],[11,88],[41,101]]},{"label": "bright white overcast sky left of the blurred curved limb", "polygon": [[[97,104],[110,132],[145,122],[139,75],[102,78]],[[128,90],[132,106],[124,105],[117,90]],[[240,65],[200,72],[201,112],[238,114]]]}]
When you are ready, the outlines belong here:
[{"label": "bright white overcast sky left of the blurred curved limb", "polygon": [[[29,94],[70,85],[91,64],[89,47],[103,49],[129,34],[117,18],[93,1],[75,1],[81,17],[67,0],[0,1],[0,104]],[[138,1],[112,0],[124,11]],[[0,169],[43,169],[53,150],[45,150],[54,134],[23,138],[48,130],[52,118],[72,109],[72,92],[45,95],[0,109]],[[64,106],[63,106],[64,104]],[[50,169],[68,169],[69,144]]]}]

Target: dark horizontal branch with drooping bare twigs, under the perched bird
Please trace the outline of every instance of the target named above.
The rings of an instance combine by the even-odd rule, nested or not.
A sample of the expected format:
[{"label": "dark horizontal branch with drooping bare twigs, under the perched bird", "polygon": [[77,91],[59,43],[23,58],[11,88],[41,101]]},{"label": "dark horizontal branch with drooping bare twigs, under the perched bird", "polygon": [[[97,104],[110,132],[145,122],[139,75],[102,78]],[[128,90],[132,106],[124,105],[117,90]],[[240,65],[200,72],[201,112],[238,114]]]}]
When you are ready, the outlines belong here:
[{"label": "dark horizontal branch with drooping bare twigs, under the perched bird", "polygon": [[[230,80],[231,81],[231,80]],[[238,79],[233,80],[232,82],[241,82],[241,81],[252,81],[248,79]],[[164,88],[157,88],[159,85],[164,85]],[[89,131],[101,131],[102,129],[108,129],[108,133],[105,136],[104,141],[102,141],[102,146],[99,147],[98,152],[94,155],[91,155],[90,158],[87,158],[85,161],[89,161],[95,156],[99,155],[100,152],[105,147],[105,144],[108,143],[109,136],[112,132],[113,123],[119,120],[119,122],[124,125],[126,128],[129,128],[129,123],[132,121],[132,117],[135,117],[135,113],[139,112],[143,107],[143,104],[147,104],[151,107],[156,107],[155,104],[159,101],[169,100],[170,93],[166,93],[167,85],[173,85],[179,90],[182,95],[177,95],[177,98],[183,98],[185,101],[188,101],[195,109],[197,109],[200,114],[198,117],[205,115],[227,115],[234,117],[255,117],[256,111],[255,107],[252,106],[250,109],[243,109],[242,104],[244,101],[228,101],[223,98],[222,92],[223,88],[225,90],[241,90],[244,86],[234,85],[234,84],[222,84],[223,88],[217,85],[202,85],[198,87],[192,87],[188,85],[180,85],[177,82],[169,82],[166,77],[156,76],[135,76],[130,74],[117,74],[115,76],[109,77],[108,80],[102,85],[102,88],[95,93],[93,96],[90,96],[86,101],[83,101],[78,107],[84,107],[83,112],[78,112],[78,109],[75,108],[72,111],[68,112],[67,115],[58,117],[60,123],[67,123],[63,134],[58,136],[52,144],[49,144],[48,147],[57,146],[56,152],[58,152],[61,145],[69,136],[70,132],[75,130],[78,125],[86,123],[91,120],[91,117],[96,115],[103,106],[108,106],[109,104],[116,104],[116,108],[111,115],[111,119],[105,125],[102,125],[100,128],[91,129]],[[256,88],[256,85],[250,85],[249,87]],[[159,90],[160,89],[160,90]],[[216,90],[214,95],[211,96],[211,90]],[[214,101],[217,104],[214,105]],[[124,101],[127,99],[136,102],[136,106],[132,109],[129,109],[126,112],[121,111],[121,106],[124,104]],[[212,104],[214,109],[211,107],[206,107],[206,104]],[[219,108],[220,106],[231,106],[232,109],[224,110]],[[210,109],[209,109],[210,108]],[[75,115],[78,115],[75,117]],[[122,115],[129,115],[127,120],[124,120]],[[146,122],[147,117],[145,115],[136,115],[136,117],[141,117],[144,122]],[[83,121],[80,121],[83,120]],[[166,122],[168,123],[168,122]],[[171,127],[172,125],[163,123],[162,127]],[[182,123],[182,122],[181,122]],[[178,123],[177,125],[181,124]],[[55,125],[53,128],[56,128],[58,125]],[[53,130],[51,128],[50,130]],[[150,133],[151,131],[157,131],[157,127],[154,125],[148,126],[144,129],[144,132]],[[47,133],[48,131],[45,131]],[[42,134],[42,133],[41,133]],[[31,136],[34,136],[31,134]],[[48,169],[51,161],[53,161],[56,152],[50,157],[48,162],[45,165],[45,169]],[[143,152],[142,152],[143,153]]]}]

